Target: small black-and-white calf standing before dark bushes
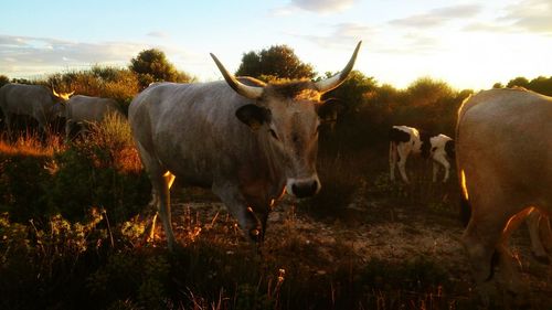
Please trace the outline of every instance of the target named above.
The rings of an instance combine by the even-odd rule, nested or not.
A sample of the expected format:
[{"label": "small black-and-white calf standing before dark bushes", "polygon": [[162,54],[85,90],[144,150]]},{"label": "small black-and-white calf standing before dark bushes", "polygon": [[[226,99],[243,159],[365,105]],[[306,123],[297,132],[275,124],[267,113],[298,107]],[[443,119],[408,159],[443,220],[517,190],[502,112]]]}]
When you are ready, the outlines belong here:
[{"label": "small black-and-white calf standing before dark bushes", "polygon": [[395,180],[395,165],[403,181],[408,183],[405,165],[410,153],[433,159],[433,182],[437,181],[439,164],[445,169],[443,182],[448,180],[450,163],[454,158],[454,140],[445,135],[431,135],[407,126],[393,126],[389,131],[389,167],[391,181]]}]

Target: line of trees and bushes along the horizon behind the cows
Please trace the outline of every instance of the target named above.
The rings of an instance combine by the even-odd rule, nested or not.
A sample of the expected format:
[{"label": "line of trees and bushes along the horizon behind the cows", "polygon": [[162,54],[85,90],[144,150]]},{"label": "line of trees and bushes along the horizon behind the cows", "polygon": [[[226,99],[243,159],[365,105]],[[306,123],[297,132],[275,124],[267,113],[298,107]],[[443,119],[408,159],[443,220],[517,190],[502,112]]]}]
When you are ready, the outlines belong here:
[{"label": "line of trees and bushes along the horizon behind the cows", "polygon": [[[243,54],[236,75],[252,76],[264,82],[277,79],[320,79],[332,73],[319,75],[314,66],[298,58],[287,45],[273,45],[261,51]],[[157,49],[141,51],[127,67],[95,65],[87,71],[56,73],[43,81],[9,79],[0,75],[0,86],[9,83],[30,83],[53,86],[62,92],[112,97],[124,108],[132,97],[152,82],[189,83],[195,78],[167,60]],[[552,76],[533,79],[516,77],[506,85],[496,83],[495,88],[521,86],[552,96]],[[337,89],[325,95],[337,108],[337,120],[327,145],[333,149],[363,149],[386,139],[392,125],[408,125],[429,131],[454,136],[456,110],[471,89],[454,89],[443,81],[421,77],[404,89],[380,85],[374,77],[353,71],[350,78]],[[343,139],[344,138],[344,139]]]}]

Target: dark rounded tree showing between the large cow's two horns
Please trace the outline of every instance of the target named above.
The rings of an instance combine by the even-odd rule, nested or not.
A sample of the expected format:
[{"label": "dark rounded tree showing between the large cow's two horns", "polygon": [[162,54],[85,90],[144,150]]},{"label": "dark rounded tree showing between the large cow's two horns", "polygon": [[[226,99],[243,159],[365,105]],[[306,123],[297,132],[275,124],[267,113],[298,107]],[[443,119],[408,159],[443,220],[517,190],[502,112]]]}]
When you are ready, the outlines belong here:
[{"label": "dark rounded tree showing between the large cow's two horns", "polygon": [[274,45],[259,53],[243,54],[242,64],[236,75],[247,75],[259,79],[273,78],[314,78],[316,73],[310,64],[302,63],[293,49],[287,45]]}]

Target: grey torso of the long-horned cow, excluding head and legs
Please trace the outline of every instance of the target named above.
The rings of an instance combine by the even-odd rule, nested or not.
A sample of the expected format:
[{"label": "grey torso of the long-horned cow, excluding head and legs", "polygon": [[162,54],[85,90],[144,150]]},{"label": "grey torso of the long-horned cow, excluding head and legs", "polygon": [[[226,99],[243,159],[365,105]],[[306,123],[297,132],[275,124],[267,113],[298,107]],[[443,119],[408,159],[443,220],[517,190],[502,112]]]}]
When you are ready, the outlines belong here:
[{"label": "grey torso of the long-horned cow, excluding head and legs", "polygon": [[208,184],[221,174],[235,174],[240,161],[254,161],[254,135],[235,117],[247,103],[253,101],[225,82],[161,83],[132,100],[128,118],[136,142],[168,170],[191,183]]}]

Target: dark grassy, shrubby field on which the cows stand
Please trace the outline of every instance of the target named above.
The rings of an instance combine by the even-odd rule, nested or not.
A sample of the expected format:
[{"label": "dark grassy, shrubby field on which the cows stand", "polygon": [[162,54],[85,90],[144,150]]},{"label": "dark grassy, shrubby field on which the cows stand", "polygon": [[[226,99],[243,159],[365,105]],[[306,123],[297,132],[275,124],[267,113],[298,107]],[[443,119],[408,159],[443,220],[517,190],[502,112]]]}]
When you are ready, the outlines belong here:
[{"label": "dark grassy, shrubby field on which the cows stand", "polygon": [[[322,191],[288,196],[266,242],[248,243],[209,191],[172,193],[178,248],[147,240],[149,182],[124,125],[85,139],[0,142],[0,309],[475,309],[455,178],[389,180],[385,145],[321,153]],[[117,127],[119,126],[119,127]],[[123,127],[121,127],[123,126]],[[115,132],[115,133],[114,133]],[[453,175],[455,171],[452,171]],[[511,248],[533,309],[552,304],[552,270]],[[495,309],[508,309],[498,296]]]}]

